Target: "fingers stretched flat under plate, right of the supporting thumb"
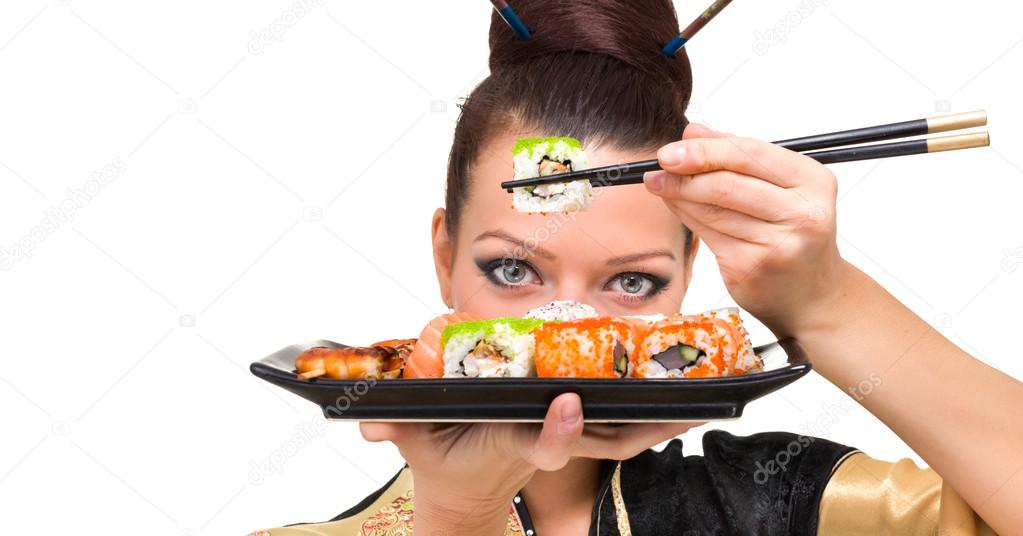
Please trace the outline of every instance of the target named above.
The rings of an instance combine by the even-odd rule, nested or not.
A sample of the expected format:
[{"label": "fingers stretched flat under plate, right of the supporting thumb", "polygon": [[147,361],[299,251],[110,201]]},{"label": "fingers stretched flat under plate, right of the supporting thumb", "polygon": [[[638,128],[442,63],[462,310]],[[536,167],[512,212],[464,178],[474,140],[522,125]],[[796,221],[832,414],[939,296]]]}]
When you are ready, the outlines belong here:
[{"label": "fingers stretched flat under plate, right of the supporting thumb", "polygon": [[575,455],[599,459],[628,459],[678,436],[702,422],[652,422],[642,425],[588,425]]}]

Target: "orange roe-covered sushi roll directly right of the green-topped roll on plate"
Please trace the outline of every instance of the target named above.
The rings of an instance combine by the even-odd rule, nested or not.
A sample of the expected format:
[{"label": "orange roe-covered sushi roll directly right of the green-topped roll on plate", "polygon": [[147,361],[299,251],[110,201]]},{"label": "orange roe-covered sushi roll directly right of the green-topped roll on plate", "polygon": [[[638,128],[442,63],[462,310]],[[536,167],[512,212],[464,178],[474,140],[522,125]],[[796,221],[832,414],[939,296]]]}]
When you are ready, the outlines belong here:
[{"label": "orange roe-covered sushi roll directly right of the green-topped roll on plate", "polygon": [[607,316],[547,322],[533,331],[536,375],[625,377],[644,327],[642,321]]}]

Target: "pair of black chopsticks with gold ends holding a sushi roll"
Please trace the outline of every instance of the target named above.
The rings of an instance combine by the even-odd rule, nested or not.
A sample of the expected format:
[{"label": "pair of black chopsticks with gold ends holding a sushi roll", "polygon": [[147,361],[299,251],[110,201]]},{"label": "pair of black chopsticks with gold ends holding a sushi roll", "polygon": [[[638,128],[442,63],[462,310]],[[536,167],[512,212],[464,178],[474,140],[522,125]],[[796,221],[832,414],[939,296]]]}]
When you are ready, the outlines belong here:
[{"label": "pair of black chopsticks with gold ends holding a sushi roll", "polygon": [[[840,162],[888,159],[908,154],[923,154],[925,152],[938,152],[943,150],[987,146],[990,143],[988,134],[986,132],[975,132],[898,141],[894,143],[877,143],[873,145],[843,147],[844,145],[898,139],[909,136],[934,134],[938,132],[949,132],[984,125],[987,125],[987,113],[983,110],[966,111],[961,114],[950,114],[947,116],[936,116],[932,118],[903,121],[900,123],[889,123],[887,125],[877,125],[874,127],[843,130],[827,134],[817,134],[802,138],[785,139],[775,141],[774,144],[799,152],[811,151],[804,152],[804,154],[820,162],[821,164],[836,164]],[[826,148],[831,150],[813,150]],[[569,182],[573,180],[588,180],[593,186],[638,184],[642,182],[643,174],[651,171],[657,171],[659,169],[661,169],[661,166],[658,164],[657,160],[647,160],[619,164],[616,166],[606,166],[603,168],[590,168],[588,170],[575,171],[571,173],[559,173],[544,177],[504,181],[501,183],[501,188],[511,191],[513,188],[516,187],[538,186],[541,184]]]}]

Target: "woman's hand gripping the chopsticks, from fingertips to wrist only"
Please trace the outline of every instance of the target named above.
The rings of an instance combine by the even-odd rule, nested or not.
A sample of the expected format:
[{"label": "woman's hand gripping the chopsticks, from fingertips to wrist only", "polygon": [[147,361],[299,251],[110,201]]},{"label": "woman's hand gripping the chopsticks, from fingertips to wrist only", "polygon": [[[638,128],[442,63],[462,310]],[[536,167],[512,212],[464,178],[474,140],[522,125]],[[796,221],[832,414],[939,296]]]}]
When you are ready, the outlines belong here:
[{"label": "woman's hand gripping the chopsticks, from fingertips to wrist only", "polygon": [[779,337],[824,310],[846,264],[835,242],[835,176],[765,141],[691,124],[648,173],[660,195],[717,257],[743,308]]}]

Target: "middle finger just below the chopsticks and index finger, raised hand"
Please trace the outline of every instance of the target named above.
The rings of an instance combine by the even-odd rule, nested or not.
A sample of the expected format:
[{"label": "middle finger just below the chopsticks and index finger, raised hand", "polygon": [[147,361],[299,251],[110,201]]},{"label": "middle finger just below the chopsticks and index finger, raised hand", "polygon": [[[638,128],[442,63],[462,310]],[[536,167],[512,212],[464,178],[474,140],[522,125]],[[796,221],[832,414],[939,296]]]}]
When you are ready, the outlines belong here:
[{"label": "middle finger just below the chopsticks and index finger, raised hand", "polygon": [[713,205],[767,222],[798,219],[799,208],[809,205],[796,190],[730,171],[698,175],[652,171],[644,182],[648,189],[665,199]]}]

